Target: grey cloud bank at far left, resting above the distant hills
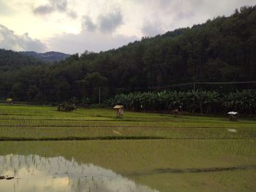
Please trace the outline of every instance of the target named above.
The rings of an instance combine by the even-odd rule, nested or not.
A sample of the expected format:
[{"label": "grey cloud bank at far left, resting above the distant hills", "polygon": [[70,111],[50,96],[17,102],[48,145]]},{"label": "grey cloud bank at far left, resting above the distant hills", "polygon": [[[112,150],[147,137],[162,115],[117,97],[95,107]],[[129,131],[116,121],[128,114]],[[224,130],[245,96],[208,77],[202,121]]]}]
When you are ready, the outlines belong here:
[{"label": "grey cloud bank at far left, resting above the distant hills", "polygon": [[7,50],[34,50],[43,52],[46,46],[29,34],[17,35],[14,31],[0,24],[0,47]]}]

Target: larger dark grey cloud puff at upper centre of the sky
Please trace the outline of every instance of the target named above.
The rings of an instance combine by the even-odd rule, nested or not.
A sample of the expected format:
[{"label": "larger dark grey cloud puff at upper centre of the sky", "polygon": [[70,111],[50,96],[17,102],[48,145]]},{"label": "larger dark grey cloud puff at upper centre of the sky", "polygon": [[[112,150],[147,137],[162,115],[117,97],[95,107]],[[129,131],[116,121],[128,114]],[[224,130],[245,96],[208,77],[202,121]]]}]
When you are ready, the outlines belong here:
[{"label": "larger dark grey cloud puff at upper centre of the sky", "polygon": [[108,15],[99,16],[99,28],[104,32],[113,32],[123,23],[120,11],[110,12]]}]

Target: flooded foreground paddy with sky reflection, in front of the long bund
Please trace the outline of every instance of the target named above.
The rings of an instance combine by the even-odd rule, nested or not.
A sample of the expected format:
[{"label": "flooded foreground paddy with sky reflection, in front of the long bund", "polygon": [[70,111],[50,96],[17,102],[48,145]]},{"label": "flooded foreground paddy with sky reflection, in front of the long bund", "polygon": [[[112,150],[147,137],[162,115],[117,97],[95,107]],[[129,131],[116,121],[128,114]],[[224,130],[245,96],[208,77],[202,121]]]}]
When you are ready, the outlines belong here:
[{"label": "flooded foreground paddy with sky reflection, in front of the long bund", "polygon": [[[255,191],[255,139],[1,142],[4,191]],[[1,191],[2,191],[1,190]]]}]

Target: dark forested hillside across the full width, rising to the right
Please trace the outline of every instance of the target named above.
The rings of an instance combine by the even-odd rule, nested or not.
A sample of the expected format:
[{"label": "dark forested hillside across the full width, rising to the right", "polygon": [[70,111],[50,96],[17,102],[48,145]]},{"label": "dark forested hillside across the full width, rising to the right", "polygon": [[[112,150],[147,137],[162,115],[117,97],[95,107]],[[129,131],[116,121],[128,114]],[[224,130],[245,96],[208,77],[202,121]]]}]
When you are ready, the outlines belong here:
[{"label": "dark forested hillside across the full width, rising to the right", "polygon": [[116,50],[86,51],[54,66],[3,73],[0,86],[2,96],[33,100],[45,95],[48,101],[63,101],[73,96],[96,99],[99,87],[105,88],[102,96],[106,97],[116,88],[255,79],[256,6],[241,7],[229,17],[192,28],[144,37]]}]

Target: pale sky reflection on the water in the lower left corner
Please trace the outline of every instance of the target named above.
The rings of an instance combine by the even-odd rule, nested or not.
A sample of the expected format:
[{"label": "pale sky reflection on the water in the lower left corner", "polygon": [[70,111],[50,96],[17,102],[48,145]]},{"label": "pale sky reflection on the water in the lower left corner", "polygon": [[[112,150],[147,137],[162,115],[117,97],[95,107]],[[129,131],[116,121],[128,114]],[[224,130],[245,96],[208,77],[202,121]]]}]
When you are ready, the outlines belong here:
[{"label": "pale sky reflection on the water in the lower left corner", "polygon": [[0,175],[15,177],[13,180],[0,180],[0,191],[8,192],[157,192],[109,169],[78,164],[63,157],[0,155]]}]

